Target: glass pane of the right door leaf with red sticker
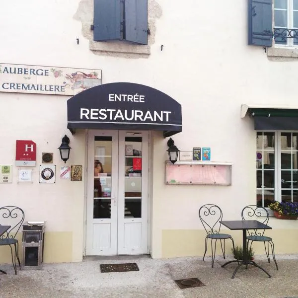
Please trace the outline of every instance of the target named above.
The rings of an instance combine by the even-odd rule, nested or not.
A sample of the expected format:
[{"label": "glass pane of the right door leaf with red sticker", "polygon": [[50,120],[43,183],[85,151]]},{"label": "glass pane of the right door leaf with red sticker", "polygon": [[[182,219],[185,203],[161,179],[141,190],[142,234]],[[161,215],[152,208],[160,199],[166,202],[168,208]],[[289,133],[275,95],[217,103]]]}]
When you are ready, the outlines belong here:
[{"label": "glass pane of the right door leaf with red sticker", "polygon": [[125,138],[125,218],[142,217],[142,137]]}]

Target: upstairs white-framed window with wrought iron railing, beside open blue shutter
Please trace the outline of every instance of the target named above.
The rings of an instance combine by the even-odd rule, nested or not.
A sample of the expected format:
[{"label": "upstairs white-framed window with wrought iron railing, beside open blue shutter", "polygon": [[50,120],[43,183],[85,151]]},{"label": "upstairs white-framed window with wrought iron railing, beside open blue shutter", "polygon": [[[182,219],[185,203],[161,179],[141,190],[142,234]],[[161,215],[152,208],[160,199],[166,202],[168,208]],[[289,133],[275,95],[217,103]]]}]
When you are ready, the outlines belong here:
[{"label": "upstairs white-framed window with wrought iron railing, beside open blue shutter", "polygon": [[274,0],[273,3],[275,45],[298,47],[298,0]]}]

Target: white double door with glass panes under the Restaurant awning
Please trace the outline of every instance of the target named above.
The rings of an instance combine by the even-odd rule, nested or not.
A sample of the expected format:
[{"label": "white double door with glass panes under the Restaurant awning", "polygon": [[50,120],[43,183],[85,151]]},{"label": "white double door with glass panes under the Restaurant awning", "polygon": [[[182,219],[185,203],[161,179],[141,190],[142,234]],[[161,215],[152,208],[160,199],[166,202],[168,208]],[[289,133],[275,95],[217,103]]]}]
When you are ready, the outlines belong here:
[{"label": "white double door with glass panes under the Restaurant awning", "polygon": [[147,254],[148,132],[88,132],[86,255]]}]

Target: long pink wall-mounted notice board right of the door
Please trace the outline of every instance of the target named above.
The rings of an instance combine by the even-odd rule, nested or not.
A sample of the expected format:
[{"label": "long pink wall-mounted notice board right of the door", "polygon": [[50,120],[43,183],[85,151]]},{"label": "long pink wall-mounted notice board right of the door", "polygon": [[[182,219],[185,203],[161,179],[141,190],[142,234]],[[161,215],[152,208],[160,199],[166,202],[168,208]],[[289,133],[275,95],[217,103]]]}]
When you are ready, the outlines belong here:
[{"label": "long pink wall-mounted notice board right of the door", "polygon": [[231,185],[230,164],[165,164],[166,184]]}]

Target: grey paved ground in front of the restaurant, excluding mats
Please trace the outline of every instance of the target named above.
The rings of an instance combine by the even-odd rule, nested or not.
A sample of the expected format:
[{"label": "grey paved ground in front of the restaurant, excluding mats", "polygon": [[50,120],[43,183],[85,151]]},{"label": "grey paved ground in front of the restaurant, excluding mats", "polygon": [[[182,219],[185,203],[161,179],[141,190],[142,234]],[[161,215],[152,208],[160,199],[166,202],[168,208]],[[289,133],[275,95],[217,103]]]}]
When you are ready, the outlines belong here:
[{"label": "grey paved ground in front of the restaurant, excluding mats", "polygon": [[[229,260],[230,257],[227,258]],[[102,257],[79,263],[44,264],[42,270],[18,271],[10,264],[0,266],[0,298],[298,298],[298,255],[277,255],[279,270],[264,256],[255,261],[271,275],[252,266],[236,264],[222,268],[218,257],[152,260],[147,256]],[[101,273],[100,264],[136,262],[140,271]],[[198,278],[205,287],[181,290],[174,280]]]}]

